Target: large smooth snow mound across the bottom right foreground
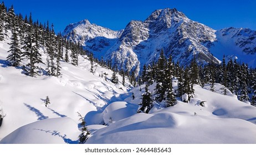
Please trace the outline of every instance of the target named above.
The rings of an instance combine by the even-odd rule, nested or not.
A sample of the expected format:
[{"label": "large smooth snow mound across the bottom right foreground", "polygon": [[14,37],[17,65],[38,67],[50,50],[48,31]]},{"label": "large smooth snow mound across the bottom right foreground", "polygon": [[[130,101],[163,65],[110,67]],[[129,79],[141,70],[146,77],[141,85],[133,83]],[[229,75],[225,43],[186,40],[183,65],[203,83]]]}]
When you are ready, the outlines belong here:
[{"label": "large smooth snow mound across the bottom right foreground", "polygon": [[256,143],[255,134],[255,125],[240,119],[138,113],[95,131],[86,143]]}]

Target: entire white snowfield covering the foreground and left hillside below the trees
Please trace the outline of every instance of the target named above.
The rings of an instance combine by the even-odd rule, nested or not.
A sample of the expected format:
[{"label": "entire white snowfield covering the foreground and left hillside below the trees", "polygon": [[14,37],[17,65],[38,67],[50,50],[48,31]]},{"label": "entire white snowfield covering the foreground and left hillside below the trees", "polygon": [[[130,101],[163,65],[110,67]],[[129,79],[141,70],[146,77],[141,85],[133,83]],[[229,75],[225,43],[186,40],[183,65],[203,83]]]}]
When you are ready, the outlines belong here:
[{"label": "entire white snowfield covering the foreground and left hillside below the trees", "polygon": [[[77,112],[85,116],[91,133],[86,143],[256,143],[256,107],[231,94],[194,85],[189,103],[177,101],[168,108],[158,103],[149,114],[137,113],[144,85],[140,91],[127,79],[125,87],[112,84],[110,70],[98,66],[93,75],[90,61],[82,56],[79,66],[62,61],[59,77],[26,76],[7,66],[8,42],[0,42],[0,143],[78,143]],[[108,74],[107,80],[102,73]],[[216,90],[220,87],[216,84]]]}]

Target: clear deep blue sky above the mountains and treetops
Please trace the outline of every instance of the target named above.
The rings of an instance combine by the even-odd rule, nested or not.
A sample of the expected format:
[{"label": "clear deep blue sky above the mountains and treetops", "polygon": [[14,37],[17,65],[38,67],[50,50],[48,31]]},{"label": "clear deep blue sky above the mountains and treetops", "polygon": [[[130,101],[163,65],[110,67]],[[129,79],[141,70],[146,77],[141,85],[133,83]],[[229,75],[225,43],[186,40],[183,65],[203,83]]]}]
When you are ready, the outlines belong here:
[{"label": "clear deep blue sky above the mountains and treetops", "polygon": [[145,20],[156,9],[177,8],[178,11],[213,29],[227,27],[256,30],[255,0],[6,0],[16,14],[32,13],[34,20],[54,24],[55,32],[66,25],[88,19],[91,23],[113,30],[124,29],[130,20]]}]

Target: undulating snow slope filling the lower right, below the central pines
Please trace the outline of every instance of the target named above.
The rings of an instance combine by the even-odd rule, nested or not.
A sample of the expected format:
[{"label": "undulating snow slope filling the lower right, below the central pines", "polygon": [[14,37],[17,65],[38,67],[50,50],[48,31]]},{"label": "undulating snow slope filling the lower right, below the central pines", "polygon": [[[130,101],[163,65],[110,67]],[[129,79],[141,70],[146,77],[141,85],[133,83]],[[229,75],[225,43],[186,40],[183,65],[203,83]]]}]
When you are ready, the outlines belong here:
[{"label": "undulating snow slope filling the lower right, below the central pines", "polygon": [[[129,106],[141,100],[144,87],[142,91],[139,89],[133,90],[135,100],[129,92],[121,95],[126,102],[114,102],[111,109],[106,108],[103,115],[111,117],[111,121],[104,119],[105,122],[114,123],[104,128],[89,126],[93,136],[87,143],[256,143],[256,107],[233,96],[194,85],[196,97],[188,104],[178,101],[168,108],[155,104],[150,113],[145,114],[136,113]],[[204,107],[199,105],[201,101],[206,101]],[[125,112],[127,117],[120,120],[116,116],[122,115],[124,107],[130,108],[131,116]]]}]

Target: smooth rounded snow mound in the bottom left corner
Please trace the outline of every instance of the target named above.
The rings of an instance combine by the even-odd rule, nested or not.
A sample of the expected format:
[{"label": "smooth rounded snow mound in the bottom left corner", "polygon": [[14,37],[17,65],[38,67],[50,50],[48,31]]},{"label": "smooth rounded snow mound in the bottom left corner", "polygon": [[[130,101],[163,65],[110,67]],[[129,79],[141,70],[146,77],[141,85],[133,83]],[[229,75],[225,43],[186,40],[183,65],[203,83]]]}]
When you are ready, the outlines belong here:
[{"label": "smooth rounded snow mound in the bottom left corner", "polygon": [[78,143],[78,125],[71,118],[50,118],[22,126],[4,137],[2,144]]}]

